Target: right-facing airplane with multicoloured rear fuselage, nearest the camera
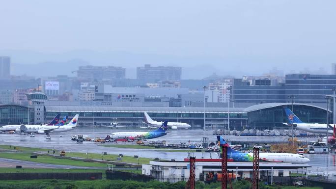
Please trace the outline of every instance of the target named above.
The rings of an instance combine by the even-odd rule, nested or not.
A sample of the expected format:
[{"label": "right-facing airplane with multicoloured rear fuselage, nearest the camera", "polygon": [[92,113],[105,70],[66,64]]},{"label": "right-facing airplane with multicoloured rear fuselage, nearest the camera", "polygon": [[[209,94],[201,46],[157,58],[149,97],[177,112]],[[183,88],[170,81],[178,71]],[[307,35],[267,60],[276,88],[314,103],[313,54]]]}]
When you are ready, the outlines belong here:
[{"label": "right-facing airplane with multicoloured rear fuselage, nearest the camera", "polygon": [[[233,162],[253,162],[253,153],[233,150],[220,135],[217,135],[217,140],[220,147],[227,147],[227,158],[232,159]],[[289,153],[259,153],[259,160],[263,162],[291,162],[297,164],[309,162],[309,159],[303,155]]]}]

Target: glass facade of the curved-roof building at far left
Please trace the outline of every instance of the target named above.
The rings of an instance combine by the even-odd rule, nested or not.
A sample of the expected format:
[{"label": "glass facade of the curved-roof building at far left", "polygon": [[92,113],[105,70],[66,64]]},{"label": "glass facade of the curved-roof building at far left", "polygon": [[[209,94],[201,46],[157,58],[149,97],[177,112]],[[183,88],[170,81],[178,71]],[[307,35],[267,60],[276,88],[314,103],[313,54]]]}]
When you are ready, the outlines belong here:
[{"label": "glass facade of the curved-roof building at far left", "polygon": [[[34,122],[34,111],[30,108],[30,124]],[[19,125],[28,123],[28,107],[17,105],[0,106],[0,125]]]}]

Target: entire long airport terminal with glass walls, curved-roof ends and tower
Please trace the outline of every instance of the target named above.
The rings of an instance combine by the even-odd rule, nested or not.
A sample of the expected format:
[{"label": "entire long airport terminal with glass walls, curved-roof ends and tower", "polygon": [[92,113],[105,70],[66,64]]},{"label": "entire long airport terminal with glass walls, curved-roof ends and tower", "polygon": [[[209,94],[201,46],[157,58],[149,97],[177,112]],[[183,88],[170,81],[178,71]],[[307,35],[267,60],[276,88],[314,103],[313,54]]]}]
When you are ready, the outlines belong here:
[{"label": "entire long airport terminal with glass walls, curved-roof ends and tower", "polygon": [[[118,123],[131,128],[145,126],[144,114],[147,112],[157,121],[184,122],[192,129],[203,128],[204,108],[200,107],[117,107],[104,102],[77,103],[67,102],[46,103],[48,98],[44,94],[27,94],[29,107],[18,105],[0,106],[0,125],[8,124],[43,124],[52,120],[57,113],[68,116],[69,119],[79,114],[79,126],[110,125],[114,118]],[[327,109],[314,105],[290,103],[266,103],[247,108],[205,108],[206,129],[287,129],[283,122],[287,122],[284,108],[293,108],[294,113],[307,123],[326,123]],[[29,110],[28,110],[29,109]],[[329,112],[331,112],[329,110]],[[29,116],[28,116],[29,113]],[[228,117],[228,114],[230,115]],[[332,115],[331,113],[329,113]],[[332,123],[332,116],[328,123]]]}]

